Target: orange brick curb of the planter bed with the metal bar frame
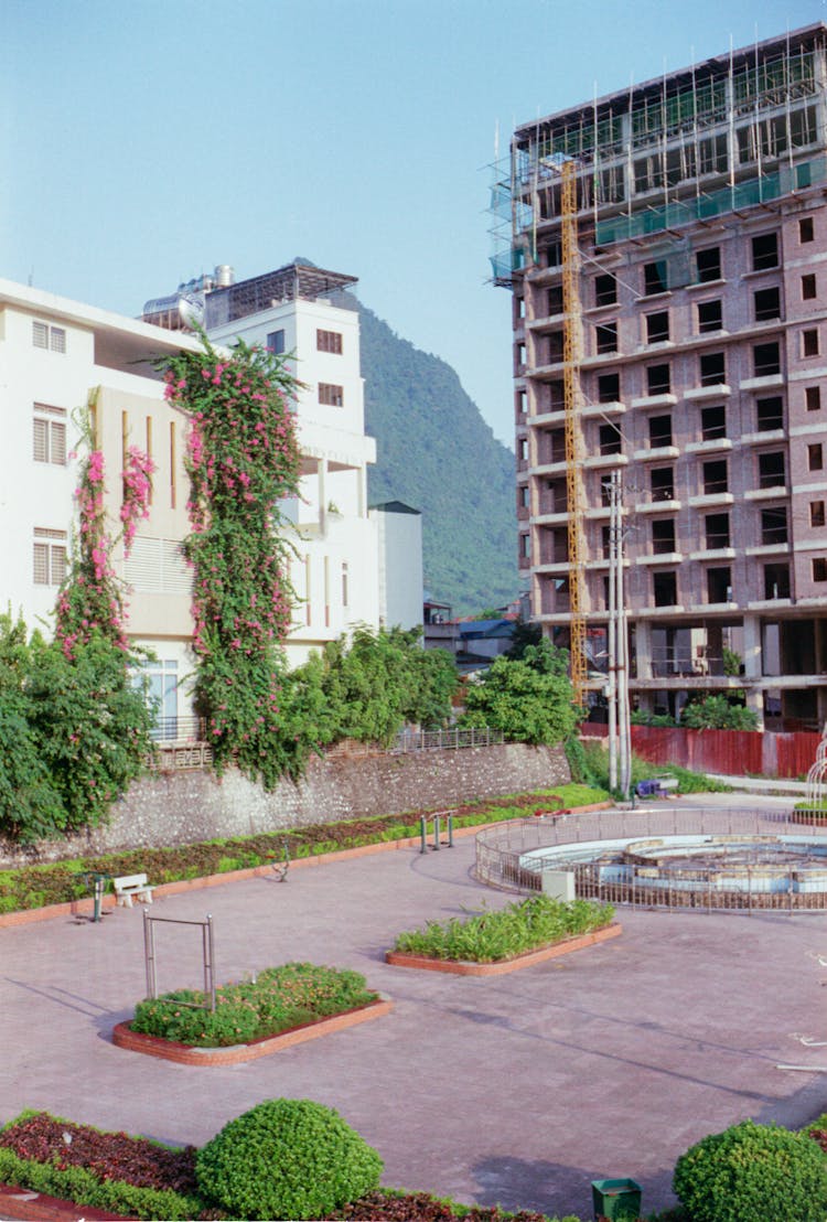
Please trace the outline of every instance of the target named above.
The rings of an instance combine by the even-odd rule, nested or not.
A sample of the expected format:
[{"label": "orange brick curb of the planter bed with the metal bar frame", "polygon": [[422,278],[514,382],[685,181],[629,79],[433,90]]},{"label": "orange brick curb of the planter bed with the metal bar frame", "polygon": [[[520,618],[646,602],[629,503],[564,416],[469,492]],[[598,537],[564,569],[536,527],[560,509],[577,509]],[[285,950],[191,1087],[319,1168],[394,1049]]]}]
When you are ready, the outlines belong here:
[{"label": "orange brick curb of the planter bed with the metal bar frame", "polygon": [[239,1064],[242,1061],[269,1057],[270,1053],[281,1052],[282,1048],[290,1048],[296,1044],[305,1044],[308,1040],[318,1040],[322,1035],[332,1035],[333,1031],[343,1031],[348,1026],[382,1018],[385,1014],[390,1014],[392,1008],[393,1003],[387,997],[380,997],[379,1001],[359,1006],[358,1009],[346,1011],[343,1014],[332,1014],[330,1018],[320,1018],[315,1023],[293,1026],[280,1035],[265,1035],[249,1044],[233,1044],[224,1048],[200,1048],[189,1044],[178,1044],[176,1040],[165,1040],[159,1035],[143,1035],[133,1031],[129,1023],[118,1023],[112,1030],[112,1044],[118,1048],[127,1048],[129,1052],[143,1052],[149,1057],[177,1061],[178,1064],[184,1066]]}]

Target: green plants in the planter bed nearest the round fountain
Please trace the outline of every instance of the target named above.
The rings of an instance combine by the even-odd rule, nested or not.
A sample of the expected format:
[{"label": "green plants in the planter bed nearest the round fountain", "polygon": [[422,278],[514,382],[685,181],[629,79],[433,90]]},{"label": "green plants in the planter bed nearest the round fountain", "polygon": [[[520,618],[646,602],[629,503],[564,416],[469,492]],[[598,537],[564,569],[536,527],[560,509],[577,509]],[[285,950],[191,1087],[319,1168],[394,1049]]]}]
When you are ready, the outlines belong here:
[{"label": "green plants in the planter bed nearest the round fountain", "polygon": [[486,910],[464,920],[452,916],[443,924],[428,921],[424,929],[399,934],[393,948],[436,959],[496,963],[566,937],[602,929],[613,916],[611,904],[588,899],[563,903],[537,895],[498,912]]}]

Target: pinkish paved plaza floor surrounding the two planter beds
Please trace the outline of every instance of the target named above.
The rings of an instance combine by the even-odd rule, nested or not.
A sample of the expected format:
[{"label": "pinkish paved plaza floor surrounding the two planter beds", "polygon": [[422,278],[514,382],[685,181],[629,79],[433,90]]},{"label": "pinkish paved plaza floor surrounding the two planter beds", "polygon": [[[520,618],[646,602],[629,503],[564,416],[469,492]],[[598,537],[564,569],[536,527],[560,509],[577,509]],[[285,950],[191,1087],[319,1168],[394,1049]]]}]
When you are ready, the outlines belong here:
[{"label": "pinkish paved plaza floor surrounding the two planter beds", "polygon": [[[263,1099],[314,1099],[376,1146],[388,1185],[588,1218],[591,1179],[630,1176],[644,1209],[662,1207],[677,1156],[706,1133],[827,1108],[827,1074],[777,1068],[827,1067],[827,1047],[800,1042],[827,1040],[826,916],[621,909],[622,937],[508,976],[385,964],[399,930],[512,898],[473,864],[468,837],[156,899],[155,915],[213,914],[219,982],[304,959],[355,968],[395,1001],[239,1066],[112,1046],[144,993],[140,908],[0,930],[0,1121],[37,1107],[199,1145]],[[200,984],[197,929],[159,926],[158,951],[160,989]]]}]

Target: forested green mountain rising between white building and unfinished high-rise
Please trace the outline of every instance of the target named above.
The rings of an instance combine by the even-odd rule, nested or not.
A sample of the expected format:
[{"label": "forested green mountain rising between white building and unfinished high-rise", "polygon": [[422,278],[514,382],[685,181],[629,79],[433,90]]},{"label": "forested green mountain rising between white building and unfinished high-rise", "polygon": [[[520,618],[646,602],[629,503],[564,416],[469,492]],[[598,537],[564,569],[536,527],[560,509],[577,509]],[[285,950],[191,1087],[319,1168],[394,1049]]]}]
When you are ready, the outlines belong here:
[{"label": "forested green mountain rising between white building and unfinished high-rise", "polygon": [[365,430],[376,437],[371,505],[423,514],[425,589],[456,615],[517,598],[514,456],[451,365],[359,304]]}]

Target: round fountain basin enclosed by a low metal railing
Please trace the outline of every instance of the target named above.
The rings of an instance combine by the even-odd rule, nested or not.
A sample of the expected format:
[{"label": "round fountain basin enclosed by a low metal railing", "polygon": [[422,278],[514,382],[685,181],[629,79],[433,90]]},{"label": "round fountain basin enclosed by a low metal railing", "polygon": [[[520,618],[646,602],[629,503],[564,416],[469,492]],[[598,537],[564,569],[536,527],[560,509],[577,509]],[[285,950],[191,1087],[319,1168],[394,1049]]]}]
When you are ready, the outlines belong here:
[{"label": "round fountain basin enclosed by a low metal railing", "polygon": [[[600,842],[651,841],[663,837],[732,838],[743,847],[778,837],[814,841],[827,852],[827,822],[806,811],[741,808],[674,807],[658,810],[607,810],[589,814],[519,819],[486,827],[476,835],[476,876],[490,886],[533,892],[542,890],[544,870],[570,870],[580,898],[646,908],[694,908],[706,912],[823,912],[827,910],[827,857],[818,864],[806,859],[789,865],[732,865],[726,854],[709,865],[679,862],[629,870],[612,877]],[[531,858],[542,849],[595,843],[592,860],[561,862]],[[702,853],[702,846],[699,846]],[[743,854],[741,854],[743,855]],[[617,871],[616,871],[617,873]],[[621,871],[622,873],[622,871]],[[767,877],[772,875],[768,888]]]}]

